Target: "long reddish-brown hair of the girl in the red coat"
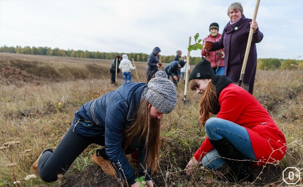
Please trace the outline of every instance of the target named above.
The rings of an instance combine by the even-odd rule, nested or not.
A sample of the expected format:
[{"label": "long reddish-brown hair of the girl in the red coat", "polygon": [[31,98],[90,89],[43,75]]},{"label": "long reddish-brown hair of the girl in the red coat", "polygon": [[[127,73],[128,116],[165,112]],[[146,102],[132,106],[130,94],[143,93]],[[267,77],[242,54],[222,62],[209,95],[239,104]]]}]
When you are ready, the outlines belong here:
[{"label": "long reddish-brown hair of the girl in the red coat", "polygon": [[[192,79],[189,84],[191,90],[196,90],[198,86],[196,79]],[[219,106],[216,88],[212,84],[212,81],[210,81],[200,99],[199,123],[204,126],[205,122],[210,118],[210,114],[214,114],[217,107]]]}]

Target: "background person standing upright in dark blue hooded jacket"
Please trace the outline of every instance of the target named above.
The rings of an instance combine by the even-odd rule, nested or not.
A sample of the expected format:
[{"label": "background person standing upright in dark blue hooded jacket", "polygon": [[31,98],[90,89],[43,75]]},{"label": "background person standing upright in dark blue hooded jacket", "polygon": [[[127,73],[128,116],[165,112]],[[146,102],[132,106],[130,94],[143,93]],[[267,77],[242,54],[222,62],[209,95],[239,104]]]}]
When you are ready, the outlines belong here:
[{"label": "background person standing upright in dark blue hooded jacket", "polygon": [[152,53],[149,56],[148,64],[146,67],[147,82],[152,79],[153,75],[158,71],[158,67],[160,67],[158,58],[159,52],[161,52],[160,48],[154,47]]}]

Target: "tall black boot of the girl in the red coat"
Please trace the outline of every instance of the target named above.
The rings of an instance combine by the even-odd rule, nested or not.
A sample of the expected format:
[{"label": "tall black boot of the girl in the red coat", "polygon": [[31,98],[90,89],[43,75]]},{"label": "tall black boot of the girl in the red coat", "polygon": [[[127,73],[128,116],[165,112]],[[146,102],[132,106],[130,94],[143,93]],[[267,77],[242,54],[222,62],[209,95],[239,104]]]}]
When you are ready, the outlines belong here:
[{"label": "tall black boot of the girl in the red coat", "polygon": [[224,175],[223,180],[230,183],[240,181],[253,182],[253,175],[250,174],[248,166],[241,161],[240,151],[225,138],[221,140],[209,140],[213,147],[223,157],[225,164],[230,168],[229,173]]}]

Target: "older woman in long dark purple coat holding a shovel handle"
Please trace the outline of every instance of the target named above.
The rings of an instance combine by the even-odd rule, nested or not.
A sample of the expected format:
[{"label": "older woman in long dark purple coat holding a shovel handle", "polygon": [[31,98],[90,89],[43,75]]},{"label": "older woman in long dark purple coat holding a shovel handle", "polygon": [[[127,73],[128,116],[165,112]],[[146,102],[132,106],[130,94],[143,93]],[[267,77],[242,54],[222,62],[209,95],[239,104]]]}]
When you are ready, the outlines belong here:
[{"label": "older woman in long dark purple coat holding a shovel handle", "polygon": [[[240,74],[250,29],[253,28],[253,39],[250,53],[247,60],[243,82],[250,85],[249,93],[253,94],[253,84],[256,71],[257,53],[255,44],[263,39],[263,34],[259,31],[257,22],[248,19],[243,14],[241,3],[232,3],[227,10],[230,18],[229,23],[225,26],[222,38],[212,44],[210,51],[221,48],[225,50],[225,75],[233,82],[240,80]],[[206,49],[203,49],[206,51]]]}]

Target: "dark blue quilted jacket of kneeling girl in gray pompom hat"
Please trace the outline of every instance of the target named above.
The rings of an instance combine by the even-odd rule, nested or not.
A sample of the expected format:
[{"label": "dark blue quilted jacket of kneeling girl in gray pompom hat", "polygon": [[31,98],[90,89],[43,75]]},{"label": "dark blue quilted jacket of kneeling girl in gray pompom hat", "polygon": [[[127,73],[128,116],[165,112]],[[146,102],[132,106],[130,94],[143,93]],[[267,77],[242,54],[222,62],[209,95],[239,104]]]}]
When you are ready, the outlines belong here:
[{"label": "dark blue quilted jacket of kneeling girl in gray pompom hat", "polygon": [[[84,137],[98,137],[105,135],[105,151],[109,161],[114,165],[121,179],[134,184],[137,176],[134,169],[123,154],[123,131],[135,117],[133,114],[139,107],[141,93],[147,85],[145,83],[126,83],[116,91],[105,93],[92,100],[76,111],[71,129],[74,133]],[[84,120],[88,123],[77,123]],[[146,153],[145,140],[141,141],[138,148],[139,162],[144,163]],[[121,165],[118,166],[118,162]],[[125,176],[125,177],[124,177]],[[144,176],[144,171],[139,168],[139,177]],[[146,180],[150,180],[146,178]]]}]

